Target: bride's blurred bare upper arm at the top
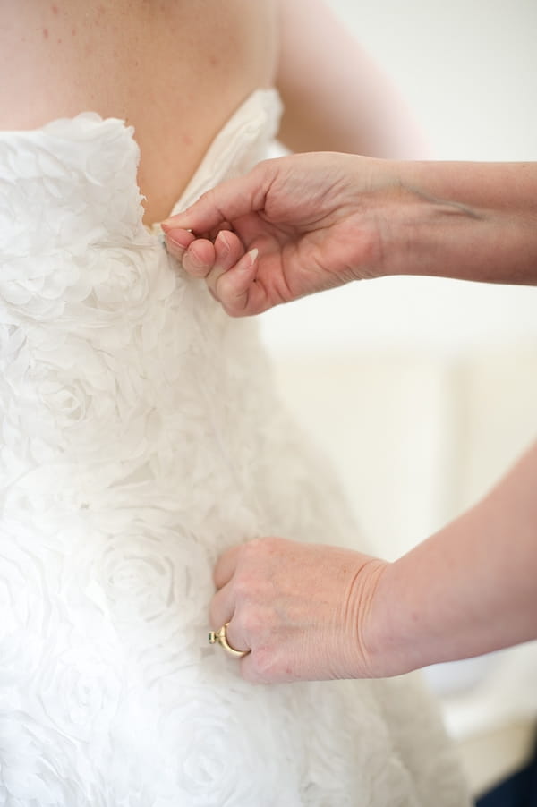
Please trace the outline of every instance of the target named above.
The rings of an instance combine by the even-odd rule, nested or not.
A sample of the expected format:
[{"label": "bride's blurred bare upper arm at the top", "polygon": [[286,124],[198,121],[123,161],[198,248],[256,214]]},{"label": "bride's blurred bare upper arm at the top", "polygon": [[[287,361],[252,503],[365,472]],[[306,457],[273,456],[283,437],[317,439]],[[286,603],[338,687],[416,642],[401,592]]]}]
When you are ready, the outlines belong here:
[{"label": "bride's blurred bare upper arm at the top", "polygon": [[322,0],[279,0],[281,140],[293,151],[426,157],[388,77]]}]

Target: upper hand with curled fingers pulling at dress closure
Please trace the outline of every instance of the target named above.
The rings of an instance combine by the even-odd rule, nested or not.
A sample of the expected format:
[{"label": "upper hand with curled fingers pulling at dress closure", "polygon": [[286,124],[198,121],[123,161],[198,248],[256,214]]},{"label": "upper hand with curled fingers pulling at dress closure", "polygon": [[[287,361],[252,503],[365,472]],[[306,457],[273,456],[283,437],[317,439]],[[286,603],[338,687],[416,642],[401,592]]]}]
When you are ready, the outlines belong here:
[{"label": "upper hand with curled fingers pulling at dress closure", "polygon": [[267,160],[164,222],[168,250],[237,317],[383,275],[375,200],[388,166],[335,153]]}]

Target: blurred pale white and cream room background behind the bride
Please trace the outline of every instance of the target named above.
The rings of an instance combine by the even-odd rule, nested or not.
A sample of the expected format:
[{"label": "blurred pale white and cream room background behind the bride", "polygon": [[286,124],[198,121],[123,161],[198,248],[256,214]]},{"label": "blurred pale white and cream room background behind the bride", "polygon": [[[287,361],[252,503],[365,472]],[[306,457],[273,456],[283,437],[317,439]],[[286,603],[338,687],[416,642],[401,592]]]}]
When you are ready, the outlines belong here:
[{"label": "blurred pale white and cream room background behind the bride", "polygon": [[[535,0],[329,5],[392,77],[430,157],[537,160]],[[381,556],[476,502],[537,437],[537,288],[364,281],[272,310],[261,327],[281,395]],[[475,794],[524,763],[537,643],[426,675]]]}]

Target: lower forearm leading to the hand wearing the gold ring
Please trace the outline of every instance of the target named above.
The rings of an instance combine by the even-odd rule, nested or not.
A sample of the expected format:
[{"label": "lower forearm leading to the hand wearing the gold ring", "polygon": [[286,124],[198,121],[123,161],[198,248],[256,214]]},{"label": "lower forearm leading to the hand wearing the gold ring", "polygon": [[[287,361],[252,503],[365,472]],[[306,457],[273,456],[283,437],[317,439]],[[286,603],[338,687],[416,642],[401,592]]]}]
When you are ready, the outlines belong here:
[{"label": "lower forearm leading to the hand wearing the gold ring", "polygon": [[371,669],[398,675],[537,638],[537,445],[379,579]]}]

